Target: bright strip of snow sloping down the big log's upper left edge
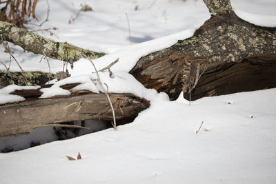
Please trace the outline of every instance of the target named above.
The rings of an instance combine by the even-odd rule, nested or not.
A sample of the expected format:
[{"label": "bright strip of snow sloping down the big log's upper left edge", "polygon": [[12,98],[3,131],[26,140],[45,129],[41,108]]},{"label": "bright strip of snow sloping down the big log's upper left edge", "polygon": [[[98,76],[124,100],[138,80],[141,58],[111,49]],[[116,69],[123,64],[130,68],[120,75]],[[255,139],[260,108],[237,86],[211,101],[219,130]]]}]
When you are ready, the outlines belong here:
[{"label": "bright strip of snow sloping down the big log's upper left edge", "polygon": [[[97,70],[99,70],[119,58],[119,62],[112,66],[112,71],[129,72],[141,57],[164,48],[169,48],[171,45],[177,43],[178,40],[192,37],[194,32],[195,29],[189,29],[159,39],[145,41],[135,45],[129,45],[117,50],[116,52],[113,52],[112,54],[95,59],[93,62],[95,63]],[[73,70],[69,69],[69,72],[72,76],[78,75],[80,73],[90,74],[91,71],[95,71],[92,67],[92,64],[88,59],[84,58],[74,63]]]}]

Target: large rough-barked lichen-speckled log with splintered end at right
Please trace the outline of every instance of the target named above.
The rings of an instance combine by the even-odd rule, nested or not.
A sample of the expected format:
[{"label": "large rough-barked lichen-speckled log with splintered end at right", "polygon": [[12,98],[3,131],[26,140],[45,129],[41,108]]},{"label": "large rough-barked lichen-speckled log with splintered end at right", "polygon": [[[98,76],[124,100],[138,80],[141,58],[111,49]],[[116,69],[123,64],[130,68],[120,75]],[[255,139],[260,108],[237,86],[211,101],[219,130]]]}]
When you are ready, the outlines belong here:
[{"label": "large rough-barked lichen-speckled log with splintered end at right", "polygon": [[193,37],[141,57],[130,74],[171,100],[275,88],[276,28],[240,19],[228,0],[204,2],[212,17]]}]

